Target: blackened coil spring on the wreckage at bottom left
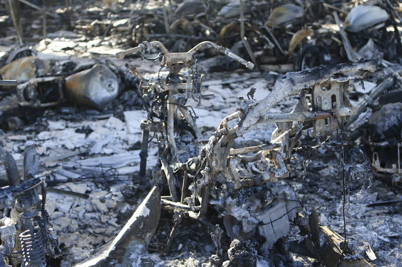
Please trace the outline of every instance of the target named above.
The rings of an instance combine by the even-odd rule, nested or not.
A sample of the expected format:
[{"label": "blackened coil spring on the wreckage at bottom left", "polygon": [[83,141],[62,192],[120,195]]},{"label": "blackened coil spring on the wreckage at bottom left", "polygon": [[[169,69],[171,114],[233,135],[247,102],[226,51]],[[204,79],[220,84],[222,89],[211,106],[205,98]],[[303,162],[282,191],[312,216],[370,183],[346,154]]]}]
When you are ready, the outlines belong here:
[{"label": "blackened coil spring on the wreckage at bottom left", "polygon": [[45,250],[39,228],[33,229],[33,235],[30,230],[20,234],[21,247],[23,250],[23,267],[44,267],[46,266]]}]

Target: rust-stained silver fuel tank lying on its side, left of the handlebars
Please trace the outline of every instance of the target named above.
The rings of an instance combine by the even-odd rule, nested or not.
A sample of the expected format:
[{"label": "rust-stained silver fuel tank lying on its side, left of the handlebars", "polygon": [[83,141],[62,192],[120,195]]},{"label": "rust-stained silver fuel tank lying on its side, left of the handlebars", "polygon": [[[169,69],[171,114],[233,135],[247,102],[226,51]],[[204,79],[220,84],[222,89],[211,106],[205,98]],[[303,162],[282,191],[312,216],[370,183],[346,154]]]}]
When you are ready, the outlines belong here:
[{"label": "rust-stained silver fuel tank lying on its side, left of the handlebars", "polygon": [[119,93],[117,76],[103,64],[66,78],[65,95],[73,103],[103,109]]}]

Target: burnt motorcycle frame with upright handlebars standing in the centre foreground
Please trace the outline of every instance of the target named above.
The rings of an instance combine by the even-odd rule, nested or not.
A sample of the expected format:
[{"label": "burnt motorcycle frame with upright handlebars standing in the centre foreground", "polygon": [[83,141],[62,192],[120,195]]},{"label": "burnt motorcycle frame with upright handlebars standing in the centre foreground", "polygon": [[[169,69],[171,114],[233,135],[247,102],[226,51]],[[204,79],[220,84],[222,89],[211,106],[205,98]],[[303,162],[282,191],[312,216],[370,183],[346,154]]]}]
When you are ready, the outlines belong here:
[{"label": "burnt motorcycle frame with upright handlebars standing in the centre foreground", "polygon": [[[212,136],[207,141],[203,141],[190,109],[185,106],[189,95],[201,95],[197,87],[198,73],[189,74],[186,69],[183,72],[180,71],[189,67],[193,61],[193,51],[202,45],[219,49],[213,43],[204,42],[188,53],[169,53],[160,42],[144,42],[136,48],[117,54],[118,58],[140,51],[144,54],[152,46],[157,46],[162,50],[162,67],[169,69],[166,73],[156,73],[157,79],[155,75],[154,80],[144,81],[143,79],[142,81],[144,107],[147,110],[148,119],[142,122],[143,164],[140,174],[144,175],[146,159],[144,148],[148,146],[149,131],[154,131],[158,134],[158,153],[163,170],[163,172],[156,172],[154,180],[161,186],[164,186],[164,183],[167,184],[170,195],[160,197],[162,207],[173,210],[176,214],[176,222],[164,249],[165,253],[169,251],[182,217],[187,216],[200,220],[211,231],[217,254],[211,256],[210,266],[237,266],[236,257],[229,257],[229,261],[222,262],[223,251],[220,245],[222,229],[219,225],[212,225],[208,218],[208,209],[212,206],[218,217],[223,218],[226,232],[234,242],[236,241],[236,244],[255,240],[256,236],[263,237],[264,241],[258,244],[261,255],[256,258],[256,261],[263,264],[262,266],[269,266],[266,260],[269,249],[279,238],[287,234],[291,221],[296,218],[302,220],[300,218],[303,217],[299,214],[302,210],[301,202],[289,185],[289,181],[285,180],[289,177],[291,170],[290,165],[285,162],[291,160],[292,154],[301,148],[299,147],[301,135],[315,138],[318,147],[333,151],[338,156],[345,171],[344,181],[346,177],[349,179],[371,168],[368,161],[356,162],[361,152],[358,148],[354,148],[355,152],[350,159],[341,158],[335,148],[349,144],[345,140],[344,126],[350,117],[357,113],[357,108],[351,105],[347,96],[349,85],[355,79],[364,79],[367,74],[375,71],[377,63],[366,60],[287,73],[275,83],[271,93],[264,99],[260,101],[253,99],[255,89],[248,94],[249,99],[240,97],[237,111],[225,117]],[[228,49],[221,47],[220,50],[231,55]],[[242,62],[241,60],[238,59]],[[244,61],[244,64],[248,63]],[[144,77],[148,79],[154,76],[144,75]],[[267,114],[283,98],[294,95],[298,95],[300,99],[291,113]],[[230,127],[230,121],[233,119],[239,121],[235,126]],[[271,141],[260,146],[232,148],[236,138],[246,135],[258,123],[277,124]],[[194,144],[202,143],[206,144],[199,155],[192,155],[196,151]],[[248,153],[254,154],[244,155]],[[181,160],[182,154],[187,156],[187,160]],[[154,188],[149,194],[150,198],[157,198],[155,191]],[[140,220],[147,221],[148,228],[150,225],[156,226],[159,216],[152,218],[149,212],[151,210],[152,213],[158,214],[159,205],[150,205],[150,203],[145,205],[146,207],[143,208],[147,210],[147,213],[143,215],[143,218],[136,216],[135,224],[138,225]],[[344,255],[342,264],[359,263],[363,264],[362,266],[370,266],[363,259],[346,255],[345,250],[339,249],[338,245],[334,244],[331,235],[335,236],[335,234],[326,228],[319,229],[317,222],[314,224],[316,217],[310,217],[310,221],[304,220],[300,223],[301,229],[307,231],[306,234],[310,239],[315,240],[323,233],[328,239],[324,242],[325,244],[313,242],[313,246],[307,245],[305,249],[309,251],[310,256],[328,263],[327,256],[321,255],[324,252],[323,246],[334,247],[338,249],[334,250],[334,254],[329,253],[332,259]],[[127,229],[134,228],[133,223],[134,221],[130,219],[126,225]],[[122,253],[120,256],[116,255],[116,244],[123,242],[123,236],[126,237],[127,230],[124,229],[121,232],[123,234],[116,237],[107,253],[79,266],[105,265],[116,260],[125,265],[132,261],[127,260],[127,253],[138,254],[138,258],[133,256],[134,254],[131,254],[130,258],[134,259],[133,264],[140,266],[142,258],[138,249],[129,249],[129,252]],[[153,231],[154,229],[151,229],[150,235]],[[135,236],[133,241],[136,242],[135,244],[139,242]],[[127,240],[124,242],[127,243]],[[149,243],[149,239],[143,238],[139,243],[147,244],[147,242]],[[253,246],[256,244],[254,243]],[[131,245],[129,247],[132,247]],[[136,245],[133,246],[135,247]],[[230,252],[228,253],[231,255]],[[349,253],[353,255],[353,251]]]}]

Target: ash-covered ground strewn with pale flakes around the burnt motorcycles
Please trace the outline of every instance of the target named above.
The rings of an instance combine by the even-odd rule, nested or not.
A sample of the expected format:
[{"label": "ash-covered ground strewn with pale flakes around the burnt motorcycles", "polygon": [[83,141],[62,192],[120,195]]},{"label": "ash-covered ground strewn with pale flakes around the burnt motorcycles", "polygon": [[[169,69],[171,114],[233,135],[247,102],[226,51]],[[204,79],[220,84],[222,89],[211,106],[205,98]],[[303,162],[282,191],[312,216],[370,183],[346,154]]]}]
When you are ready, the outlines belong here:
[{"label": "ash-covered ground strewn with pale flakes around the burnt motorcycles", "polygon": [[[7,10],[6,2],[2,1],[0,4],[2,10]],[[121,82],[119,94],[101,111],[94,107],[71,103],[71,101],[64,101],[52,107],[39,109],[19,106],[12,111],[24,119],[21,125],[18,125],[18,129],[5,131],[5,136],[2,139],[4,148],[12,154],[18,166],[21,167],[27,137],[32,137],[33,141],[36,142],[37,153],[40,155],[39,174],[36,177],[44,178],[47,183],[46,209],[50,216],[49,223],[57,231],[60,240],[61,251],[57,253],[55,259],[47,259],[47,266],[75,266],[105,251],[155,184],[156,181],[153,177],[161,168],[158,162],[158,143],[154,138],[148,148],[146,176],[144,178],[138,174],[142,138],[142,130],[139,128],[139,124],[142,119],[147,118],[147,114],[142,107],[143,100],[138,89],[139,81],[133,75],[127,74],[128,69],[126,67],[126,64],[135,66],[139,75],[146,73],[158,73],[159,75],[161,72],[160,64],[159,62],[145,61],[141,55],[116,59],[115,53],[120,52],[120,48],[128,48],[127,45],[137,45],[136,41],[138,40],[131,42],[131,35],[137,38],[145,38],[150,36],[149,34],[160,34],[155,28],[164,27],[161,22],[163,21],[161,20],[163,18],[162,9],[159,8],[156,12],[155,17],[158,18],[156,25],[150,23],[152,25],[149,26],[148,20],[142,20],[138,24],[144,29],[153,27],[150,32],[146,30],[144,32],[132,31],[133,29],[125,24],[127,21],[118,20],[120,17],[115,14],[121,12],[127,15],[131,9],[138,10],[133,8],[133,4],[127,2],[124,5],[123,2],[109,3],[107,1],[79,2],[70,4],[69,8],[63,3],[57,2],[49,5],[48,8],[49,10],[53,9],[57,14],[61,14],[60,16],[63,19],[66,19],[68,15],[71,22],[69,27],[65,25],[63,20],[59,21],[56,18],[49,17],[49,21],[54,20],[57,23],[48,24],[47,33],[45,33],[46,38],[41,36],[43,29],[39,26],[42,23],[39,18],[34,18],[32,25],[24,29],[25,41],[30,38],[28,42],[32,49],[37,51],[37,57],[43,61],[51,62],[60,73],[64,73],[63,71],[66,69],[68,71],[89,69],[96,63],[108,65],[116,73],[123,73],[123,76],[119,77]],[[338,8],[347,9],[350,8],[351,4],[352,2],[344,3],[338,5]],[[59,7],[55,8],[57,5]],[[152,14],[152,10],[154,10],[152,7],[158,5],[157,2],[151,1],[148,4],[150,8],[148,8],[147,14]],[[396,10],[396,7],[394,9]],[[400,13],[399,9],[397,11]],[[38,12],[38,16],[40,14],[39,11],[31,12],[32,14]],[[22,13],[23,23],[27,24],[26,21],[32,18],[32,14],[27,14],[26,10],[23,10]],[[327,13],[329,14],[328,11]],[[268,18],[269,14],[267,12],[265,17]],[[109,20],[101,23],[100,21],[105,20],[105,16]],[[144,15],[144,17],[147,16]],[[81,18],[82,20],[80,20]],[[116,18],[113,19],[115,24],[111,24],[111,18]],[[341,15],[341,18],[345,19],[345,16]],[[123,16],[122,20],[125,19]],[[325,23],[324,20],[328,20],[328,23]],[[96,23],[91,24],[95,21]],[[327,24],[327,26],[328,24],[335,25],[333,19],[328,17],[316,21]],[[9,30],[7,34],[5,31],[0,38],[2,42],[0,53],[1,55],[8,55],[17,47],[14,43],[17,40],[16,32],[9,17],[0,17],[0,22],[4,23],[5,28]],[[227,22],[229,23],[230,20]],[[108,25],[113,25],[109,28],[109,30],[112,29],[110,32],[107,30]],[[296,25],[298,24],[296,23]],[[324,28],[327,29],[324,26],[320,29]],[[188,29],[183,31],[185,30]],[[297,31],[295,28],[291,28],[291,30],[290,33]],[[378,28],[374,30],[378,30]],[[128,35],[127,31],[129,32]],[[179,33],[175,32],[175,34]],[[185,32],[185,34],[190,33]],[[371,33],[376,36],[373,32]],[[236,34],[238,35],[238,33]],[[279,33],[275,32],[275,34]],[[290,39],[289,31],[287,33],[283,30],[280,34],[279,37],[281,38],[278,37],[278,39],[286,40],[283,42],[287,44],[289,42],[287,39]],[[289,35],[288,38],[282,38],[286,34]],[[336,34],[339,35],[339,28]],[[336,38],[341,42],[339,40],[341,37],[338,35]],[[163,34],[160,36],[169,39]],[[269,35],[267,34],[267,36]],[[206,39],[205,36],[201,37],[203,38],[196,38],[197,42]],[[229,34],[228,38],[232,38],[232,36]],[[329,39],[328,36],[321,36],[317,38],[317,42],[320,43],[327,39]],[[355,50],[357,47],[363,46],[362,41],[358,38],[352,41],[355,41],[353,42],[356,44]],[[284,47],[283,42],[281,41],[281,45]],[[394,40],[392,44],[394,43],[397,42]],[[189,42],[189,44],[184,45],[183,42],[174,42],[171,47],[183,49],[183,46],[185,48],[192,47],[190,44],[193,43]],[[231,43],[229,42],[229,44]],[[256,44],[258,41],[254,43],[254,45]],[[240,44],[238,46],[241,47]],[[266,50],[267,47],[268,45],[264,49]],[[231,45],[230,48],[234,53],[248,57],[244,48],[238,48],[236,45]],[[279,54],[278,48],[270,48],[268,53],[264,49],[260,49],[261,51],[258,50],[255,53],[259,57],[258,60],[265,60],[265,62],[260,62],[263,72],[239,69],[236,63],[228,61],[222,55],[206,51],[199,53],[197,72],[205,74],[202,92],[213,93],[213,96],[201,99],[200,103],[189,97],[187,105],[193,107],[197,116],[197,125],[200,127],[203,137],[211,136],[222,119],[236,111],[239,97],[247,99],[252,87],[256,88],[253,95],[254,99],[261,100],[268,95],[278,79],[281,79],[287,71],[293,71],[293,67],[297,69],[296,65],[299,65],[296,62],[297,60],[295,61],[292,58],[293,56],[296,57],[295,55],[287,59],[284,57],[279,59],[276,55]],[[338,45],[337,49],[339,57],[335,57],[334,62],[347,61],[348,59],[345,56],[347,52],[343,50],[343,47]],[[385,51],[384,47],[381,47],[380,50]],[[150,54],[147,54],[147,57],[157,58],[157,52],[152,50]],[[302,52],[302,47],[300,47],[300,52]],[[332,51],[331,54],[332,57],[334,54],[336,55]],[[306,58],[304,59],[306,60]],[[390,60],[389,58],[386,59]],[[365,80],[365,90],[359,85],[359,81],[355,81],[351,85],[349,95],[351,95],[353,105],[359,105],[363,99],[366,99],[365,93],[371,91],[387,77],[392,76],[394,79],[393,88],[400,90],[400,65],[395,63],[396,60],[391,64],[386,59],[382,61],[379,70]],[[318,65],[325,63],[325,61],[317,62]],[[311,60],[311,64],[317,62]],[[228,71],[227,69],[231,70]],[[166,69],[162,69],[162,71],[166,71]],[[4,94],[0,97],[1,107],[10,104],[10,95]],[[388,95],[388,98],[392,98],[392,95]],[[297,101],[299,101],[298,96],[288,97],[280,101],[269,112],[273,115],[289,113],[295,108]],[[378,102],[375,104],[380,105]],[[373,111],[369,108],[362,114],[360,120],[367,120]],[[0,116],[4,116],[4,118],[14,116],[14,113],[0,112],[2,112]],[[398,117],[398,114],[396,116]],[[235,123],[232,126],[234,125]],[[3,128],[9,126],[3,124]],[[274,123],[258,124],[244,136],[244,139],[237,138],[233,148],[258,146],[271,139],[271,133],[275,128]],[[398,134],[400,134],[400,129]],[[367,131],[363,130],[361,136],[354,144],[361,146],[363,151],[371,156],[373,142],[368,142]],[[180,140],[178,140],[179,142]],[[314,146],[314,140],[302,138],[301,144]],[[198,148],[194,147],[190,150],[189,148],[188,154],[184,153],[183,155],[189,156],[193,153],[191,156],[197,156]],[[394,153],[397,150],[392,151]],[[392,155],[394,158],[389,160],[390,163],[383,164],[382,167],[391,168],[392,164],[397,164],[395,155]],[[349,192],[344,196],[343,168],[334,154],[318,148],[297,152],[294,156],[288,162],[292,169],[287,180],[298,195],[303,207],[302,210],[308,212],[311,209],[316,209],[321,224],[338,233],[341,236],[339,242],[343,241],[346,234],[353,250],[372,266],[402,266],[402,202],[398,201],[401,199],[400,184],[398,187],[397,181],[394,181],[394,184],[386,183],[378,175],[367,172],[361,177],[355,177],[355,180],[347,184]],[[2,181],[6,185],[6,171],[3,166],[0,168]],[[368,184],[370,184],[369,188],[367,188]],[[361,191],[362,187],[365,188],[363,192]],[[169,194],[166,183],[160,184],[160,190],[162,195]],[[345,202],[344,197],[346,198]],[[10,210],[5,209],[3,215],[6,216],[8,212]],[[221,237],[222,260],[226,261],[228,260],[226,251],[230,249],[232,240],[226,233],[222,216],[213,208],[209,208],[206,218],[212,225],[220,225],[224,230]],[[148,246],[147,257],[154,263],[153,266],[212,266],[210,257],[217,251],[211,239],[210,230],[198,220],[183,218],[177,227],[168,253],[164,253],[173,226],[174,213],[162,208],[158,227]],[[299,233],[297,225],[291,223],[288,234],[281,237],[269,251],[267,259],[269,264],[295,267],[325,266],[317,259],[289,252],[288,241],[304,238]],[[245,266],[256,261],[256,256],[251,247],[246,246],[240,251],[238,265],[236,266]],[[257,252],[261,252],[258,250],[258,246]],[[337,260],[334,259],[334,262]],[[113,266],[119,266],[119,264]]]}]

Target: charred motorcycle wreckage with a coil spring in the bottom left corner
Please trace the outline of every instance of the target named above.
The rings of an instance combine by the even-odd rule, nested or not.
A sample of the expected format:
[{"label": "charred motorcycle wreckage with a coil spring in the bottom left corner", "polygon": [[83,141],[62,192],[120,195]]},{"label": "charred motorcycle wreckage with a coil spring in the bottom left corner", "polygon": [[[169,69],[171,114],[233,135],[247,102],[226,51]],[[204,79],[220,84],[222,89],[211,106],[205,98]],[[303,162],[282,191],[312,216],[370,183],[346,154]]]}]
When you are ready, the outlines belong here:
[{"label": "charred motorcycle wreckage with a coil spring in the bottom left corner", "polygon": [[25,143],[24,169],[20,176],[14,158],[3,148],[3,137],[0,131],[0,160],[6,168],[9,185],[0,188],[0,206],[11,209],[11,218],[0,220],[0,266],[46,266],[45,255],[54,257],[59,252],[59,239],[48,224],[45,181],[35,178],[39,170],[36,143],[31,140]]}]

